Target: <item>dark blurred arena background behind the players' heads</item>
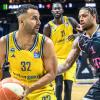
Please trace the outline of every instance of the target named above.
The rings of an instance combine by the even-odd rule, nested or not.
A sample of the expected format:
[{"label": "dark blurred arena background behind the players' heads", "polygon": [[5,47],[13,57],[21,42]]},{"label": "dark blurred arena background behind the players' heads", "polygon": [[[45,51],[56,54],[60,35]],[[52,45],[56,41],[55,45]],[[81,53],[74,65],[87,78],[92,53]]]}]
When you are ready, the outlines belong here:
[{"label": "dark blurred arena background behind the players' heads", "polygon": [[[96,9],[98,12],[98,19],[100,19],[100,3],[99,0],[2,0],[0,1],[0,26],[3,28],[3,32],[0,32],[0,36],[8,34],[11,31],[17,30],[17,18],[16,18],[16,9],[10,9],[9,6],[20,5],[25,3],[31,3],[39,6],[42,4],[44,8],[39,8],[41,14],[41,28],[40,32],[42,33],[43,26],[49,20],[51,20],[51,7],[52,3],[60,1],[64,8],[64,15],[71,16],[76,18],[78,21],[78,11],[82,6],[85,6],[86,3],[96,3]],[[70,3],[72,3],[72,8],[70,8]],[[66,8],[67,6],[67,8]],[[100,20],[99,20],[100,21]],[[99,23],[98,21],[98,23]],[[1,30],[1,29],[0,29]]]}]

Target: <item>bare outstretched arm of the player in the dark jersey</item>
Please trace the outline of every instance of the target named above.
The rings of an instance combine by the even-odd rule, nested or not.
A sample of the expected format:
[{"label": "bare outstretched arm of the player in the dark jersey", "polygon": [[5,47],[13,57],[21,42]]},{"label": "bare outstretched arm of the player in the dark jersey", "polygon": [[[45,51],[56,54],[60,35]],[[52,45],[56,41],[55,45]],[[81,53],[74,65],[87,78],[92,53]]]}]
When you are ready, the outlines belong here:
[{"label": "bare outstretched arm of the player in the dark jersey", "polygon": [[79,40],[79,37],[77,37],[74,40],[72,50],[68,54],[65,63],[61,64],[61,65],[58,65],[57,74],[61,74],[65,71],[67,71],[74,64],[75,60],[77,59],[77,57],[80,53],[80,49],[78,47],[78,40]]}]

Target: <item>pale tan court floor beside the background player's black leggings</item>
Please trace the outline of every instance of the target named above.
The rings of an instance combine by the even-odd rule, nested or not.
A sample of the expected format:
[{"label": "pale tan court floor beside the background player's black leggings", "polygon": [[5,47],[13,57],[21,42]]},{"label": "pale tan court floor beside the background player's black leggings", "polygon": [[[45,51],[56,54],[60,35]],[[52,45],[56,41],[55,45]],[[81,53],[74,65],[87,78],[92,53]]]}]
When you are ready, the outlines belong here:
[{"label": "pale tan court floor beside the background player's black leggings", "polygon": [[[79,79],[73,83],[72,88],[72,99],[71,100],[83,100],[84,95],[87,93],[89,88],[98,80],[94,79]],[[64,92],[62,93],[62,100],[64,97]]]}]

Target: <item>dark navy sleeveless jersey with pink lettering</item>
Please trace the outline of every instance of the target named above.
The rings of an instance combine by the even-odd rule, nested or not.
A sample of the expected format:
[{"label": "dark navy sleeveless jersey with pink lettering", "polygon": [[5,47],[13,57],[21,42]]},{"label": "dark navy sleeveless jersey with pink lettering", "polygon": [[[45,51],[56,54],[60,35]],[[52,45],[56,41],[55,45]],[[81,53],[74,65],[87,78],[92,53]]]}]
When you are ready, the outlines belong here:
[{"label": "dark navy sleeveless jersey with pink lettering", "polygon": [[96,31],[91,38],[81,35],[79,38],[79,47],[87,53],[90,63],[100,74],[100,31]]}]

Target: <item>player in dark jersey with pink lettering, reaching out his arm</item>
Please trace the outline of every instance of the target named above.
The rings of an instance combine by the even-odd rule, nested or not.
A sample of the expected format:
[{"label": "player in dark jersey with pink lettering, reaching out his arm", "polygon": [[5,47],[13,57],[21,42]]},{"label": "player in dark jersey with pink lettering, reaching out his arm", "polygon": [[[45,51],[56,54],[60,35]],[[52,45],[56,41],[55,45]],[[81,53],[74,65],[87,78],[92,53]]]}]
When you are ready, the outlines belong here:
[{"label": "player in dark jersey with pink lettering, reaching out his arm", "polygon": [[[100,77],[100,27],[97,24],[96,9],[82,7],[79,11],[79,20],[84,33],[75,39],[73,49],[70,51],[65,63],[59,65],[58,73],[69,69],[82,50],[87,53],[90,64]],[[89,89],[83,100],[100,100],[100,78]]]}]

